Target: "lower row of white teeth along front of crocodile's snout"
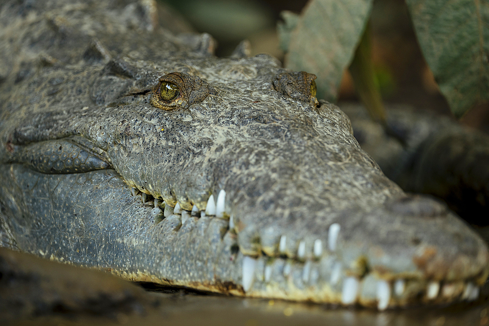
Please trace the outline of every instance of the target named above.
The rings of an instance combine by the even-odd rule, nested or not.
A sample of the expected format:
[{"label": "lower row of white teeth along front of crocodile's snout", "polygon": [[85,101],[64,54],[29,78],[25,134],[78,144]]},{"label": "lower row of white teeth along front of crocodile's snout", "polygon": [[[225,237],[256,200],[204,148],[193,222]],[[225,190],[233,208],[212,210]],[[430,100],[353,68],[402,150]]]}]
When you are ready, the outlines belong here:
[{"label": "lower row of white teeth along front of crocodile's snout", "polygon": [[[249,292],[252,289],[253,283],[255,282],[256,270],[257,269],[257,259],[244,256],[243,257],[243,289],[245,292]],[[283,268],[283,274],[285,277],[290,275],[291,265],[286,263]],[[260,273],[260,272],[258,272]],[[313,271],[311,268],[311,261],[304,263],[302,271],[302,281],[307,283]],[[272,274],[272,267],[268,264],[265,265],[263,271],[263,281],[265,283],[270,282],[270,277]],[[329,284],[334,286],[340,280],[341,274],[341,263],[336,262],[333,265],[331,272],[331,278]],[[363,280],[363,279],[362,279]],[[341,304],[352,305],[359,301],[362,280],[357,277],[346,277],[343,280],[342,290],[341,290]],[[409,280],[397,279],[395,281],[378,280],[376,286],[376,300],[378,310],[385,310],[389,305],[395,304],[395,300],[403,296],[406,290],[406,283]],[[415,281],[416,282],[416,281]],[[463,286],[463,290],[462,290]],[[434,301],[439,296],[447,299],[454,299],[454,297],[459,297],[462,301],[474,301],[479,297],[480,288],[472,282],[463,283],[442,283],[438,281],[431,281],[427,284],[424,292],[424,297],[429,301]],[[394,299],[391,302],[391,299]]]}]

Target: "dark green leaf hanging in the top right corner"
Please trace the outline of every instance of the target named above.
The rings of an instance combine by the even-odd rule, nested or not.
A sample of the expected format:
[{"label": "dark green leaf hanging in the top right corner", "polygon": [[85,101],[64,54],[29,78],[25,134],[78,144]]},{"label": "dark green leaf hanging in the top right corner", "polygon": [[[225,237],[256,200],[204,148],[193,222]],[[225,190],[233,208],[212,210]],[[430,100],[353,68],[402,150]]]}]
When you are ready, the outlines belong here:
[{"label": "dark green leaf hanging in the top right corner", "polygon": [[489,100],[489,0],[406,0],[424,57],[452,112]]}]

